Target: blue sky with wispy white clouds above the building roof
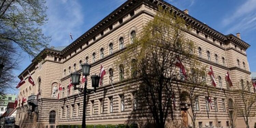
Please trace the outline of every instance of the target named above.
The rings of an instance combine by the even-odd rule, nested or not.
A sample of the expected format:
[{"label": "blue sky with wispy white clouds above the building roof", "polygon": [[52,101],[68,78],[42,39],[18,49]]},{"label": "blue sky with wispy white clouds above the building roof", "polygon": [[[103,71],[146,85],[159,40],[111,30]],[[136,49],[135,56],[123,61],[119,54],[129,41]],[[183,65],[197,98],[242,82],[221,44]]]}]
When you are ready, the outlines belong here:
[{"label": "blue sky with wispy white clouds above the building roof", "polygon": [[[46,35],[52,36],[50,46],[65,46],[85,33],[101,19],[114,11],[126,0],[47,0],[48,23],[43,27]],[[189,15],[223,34],[241,33],[249,43],[247,58],[251,72],[256,71],[256,0],[165,0],[180,10],[188,9]],[[20,63],[19,75],[32,58],[25,56]]]}]

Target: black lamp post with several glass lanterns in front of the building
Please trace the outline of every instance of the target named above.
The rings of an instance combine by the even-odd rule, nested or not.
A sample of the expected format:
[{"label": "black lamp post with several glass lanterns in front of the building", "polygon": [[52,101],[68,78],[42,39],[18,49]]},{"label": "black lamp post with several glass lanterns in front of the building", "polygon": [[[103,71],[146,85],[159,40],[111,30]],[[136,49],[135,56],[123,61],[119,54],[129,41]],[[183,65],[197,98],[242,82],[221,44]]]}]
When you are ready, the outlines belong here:
[{"label": "black lamp post with several glass lanterns in front of the building", "polygon": [[82,128],[86,128],[85,119],[86,119],[86,94],[91,91],[95,91],[97,87],[99,87],[100,77],[98,75],[91,76],[91,86],[94,89],[87,89],[87,76],[90,75],[90,65],[85,63],[82,65],[83,75],[85,76],[84,88],[78,88],[76,85],[80,84],[80,74],[77,72],[71,73],[72,84],[74,85],[74,90],[79,90],[84,93],[84,102],[83,102],[83,120],[82,120]]}]

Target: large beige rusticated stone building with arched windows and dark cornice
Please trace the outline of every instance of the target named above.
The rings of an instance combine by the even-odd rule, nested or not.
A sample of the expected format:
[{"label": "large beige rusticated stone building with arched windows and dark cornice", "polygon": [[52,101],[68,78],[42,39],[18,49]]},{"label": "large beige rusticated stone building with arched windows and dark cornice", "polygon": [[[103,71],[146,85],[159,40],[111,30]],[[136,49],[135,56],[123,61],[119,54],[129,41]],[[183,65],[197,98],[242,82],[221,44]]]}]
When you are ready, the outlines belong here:
[{"label": "large beige rusticated stone building with arched windows and dark cornice", "polygon": [[[96,93],[88,95],[86,123],[137,123],[140,127],[146,125],[139,124],[139,120],[134,118],[133,113],[136,110],[128,102],[132,94],[123,91],[127,83],[120,81],[125,79],[125,75],[120,77],[123,76],[120,71],[124,70],[115,67],[114,57],[122,52],[127,44],[132,43],[132,38],[140,34],[143,25],[153,19],[157,5],[170,9],[191,25],[192,31],[187,33],[187,37],[196,43],[198,59],[203,65],[212,66],[214,69],[218,84],[212,92],[214,108],[207,110],[205,97],[198,99],[200,114],[197,126],[229,127],[229,99],[225,95],[239,97],[239,93],[234,91],[238,85],[234,85],[233,89],[228,88],[225,76],[229,71],[233,83],[241,80],[251,81],[246,55],[246,49],[250,45],[241,40],[240,33],[236,36],[224,35],[191,17],[187,10],[181,11],[162,0],[128,0],[69,46],[46,48],[38,54],[19,75],[20,79],[25,78],[26,83],[19,88],[18,97],[26,97],[28,101],[21,105],[22,101],[19,100],[16,124],[20,128],[55,128],[61,124],[81,124],[83,94],[73,89],[69,93],[68,85],[70,74],[74,71],[81,73],[81,65],[86,62],[91,65],[90,74],[99,73],[100,65],[106,70],[103,86],[99,87]],[[28,82],[30,74],[34,86]],[[63,87],[60,92],[59,84]],[[91,88],[90,77],[87,88]],[[35,100],[34,96],[39,93],[38,100]],[[236,100],[234,102],[236,103]],[[179,102],[176,104],[179,105]],[[34,108],[38,110],[35,112]],[[189,111],[189,108],[185,111],[187,126],[191,124],[187,115]],[[181,114],[181,111],[177,109],[175,113]],[[256,118],[250,117],[251,127],[255,122]],[[244,128],[243,117],[238,115],[235,124],[237,128]]]}]

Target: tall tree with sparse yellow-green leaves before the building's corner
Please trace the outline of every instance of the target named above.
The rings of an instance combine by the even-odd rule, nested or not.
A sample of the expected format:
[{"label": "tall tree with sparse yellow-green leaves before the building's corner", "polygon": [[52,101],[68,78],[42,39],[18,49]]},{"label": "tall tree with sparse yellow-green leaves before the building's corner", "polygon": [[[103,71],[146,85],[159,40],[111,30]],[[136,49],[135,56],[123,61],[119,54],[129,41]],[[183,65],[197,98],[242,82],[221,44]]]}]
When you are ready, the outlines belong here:
[{"label": "tall tree with sparse yellow-green leaves before the building's corner", "polygon": [[177,63],[183,63],[184,67],[194,63],[194,42],[186,38],[190,27],[184,19],[161,6],[158,9],[136,39],[117,55],[116,68],[119,72],[123,72],[124,68],[124,82],[133,83],[125,89],[137,92],[137,113],[141,111],[143,117],[157,128],[166,127],[167,122],[180,127],[180,124],[174,123],[175,118],[179,118],[174,112],[177,109],[175,106],[179,106],[174,101],[179,94],[175,82],[180,76]]}]

